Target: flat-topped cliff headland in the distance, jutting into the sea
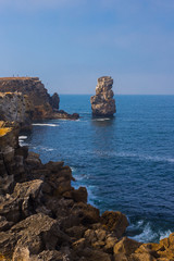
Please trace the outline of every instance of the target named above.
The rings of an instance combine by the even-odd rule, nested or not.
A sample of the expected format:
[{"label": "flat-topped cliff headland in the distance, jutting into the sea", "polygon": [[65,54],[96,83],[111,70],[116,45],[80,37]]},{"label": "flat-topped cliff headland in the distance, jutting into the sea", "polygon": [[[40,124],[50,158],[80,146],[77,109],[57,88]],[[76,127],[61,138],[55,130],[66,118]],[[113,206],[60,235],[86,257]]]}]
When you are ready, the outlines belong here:
[{"label": "flat-topped cliff headland in the distance, jutting into the sea", "polygon": [[0,78],[0,120],[26,126],[36,120],[79,117],[76,113],[61,113],[58,94],[51,97],[38,77]]}]

